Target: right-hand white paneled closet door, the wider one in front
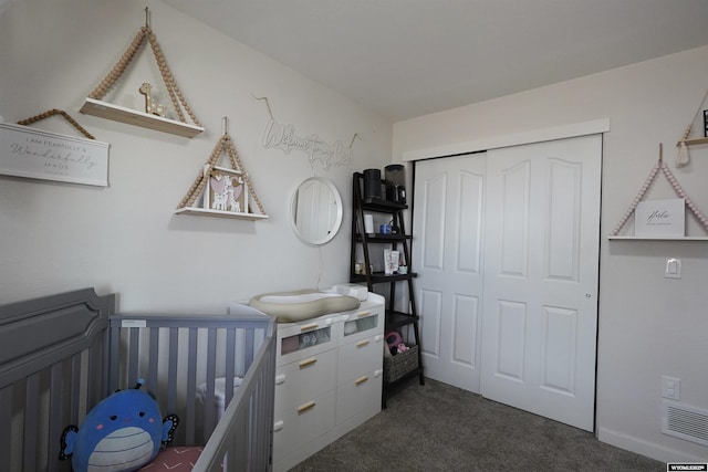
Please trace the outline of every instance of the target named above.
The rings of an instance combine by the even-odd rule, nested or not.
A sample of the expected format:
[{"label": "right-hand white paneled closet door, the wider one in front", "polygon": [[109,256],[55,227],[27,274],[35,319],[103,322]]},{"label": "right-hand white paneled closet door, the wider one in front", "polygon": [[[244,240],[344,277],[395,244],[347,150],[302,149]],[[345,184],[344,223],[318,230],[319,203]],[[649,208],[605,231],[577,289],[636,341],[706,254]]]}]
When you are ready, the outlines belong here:
[{"label": "right-hand white paneled closet door, the wider one in front", "polygon": [[593,135],[487,160],[481,394],[590,431],[601,156]]}]

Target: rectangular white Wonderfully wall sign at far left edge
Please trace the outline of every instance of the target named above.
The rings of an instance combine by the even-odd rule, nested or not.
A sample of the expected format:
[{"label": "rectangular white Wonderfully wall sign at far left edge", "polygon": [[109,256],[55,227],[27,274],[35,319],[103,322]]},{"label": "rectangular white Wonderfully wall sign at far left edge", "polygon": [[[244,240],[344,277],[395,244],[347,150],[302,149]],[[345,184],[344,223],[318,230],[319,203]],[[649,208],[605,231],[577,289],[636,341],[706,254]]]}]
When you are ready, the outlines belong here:
[{"label": "rectangular white Wonderfully wall sign at far left edge", "polygon": [[93,139],[0,123],[0,174],[107,187],[108,147]]}]

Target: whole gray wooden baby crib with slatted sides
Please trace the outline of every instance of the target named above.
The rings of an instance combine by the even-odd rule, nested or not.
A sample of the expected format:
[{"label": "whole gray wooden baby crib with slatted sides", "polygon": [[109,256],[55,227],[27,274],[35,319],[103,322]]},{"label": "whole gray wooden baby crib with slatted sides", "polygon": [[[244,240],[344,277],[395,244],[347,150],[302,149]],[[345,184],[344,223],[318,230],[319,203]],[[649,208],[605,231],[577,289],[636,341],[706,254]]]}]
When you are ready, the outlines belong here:
[{"label": "whole gray wooden baby crib with slatted sides", "polygon": [[271,470],[274,321],[247,307],[116,314],[114,303],[84,289],[0,306],[1,469],[71,470],[58,459],[64,427],[144,379],[180,418],[174,445],[204,445],[194,471]]}]

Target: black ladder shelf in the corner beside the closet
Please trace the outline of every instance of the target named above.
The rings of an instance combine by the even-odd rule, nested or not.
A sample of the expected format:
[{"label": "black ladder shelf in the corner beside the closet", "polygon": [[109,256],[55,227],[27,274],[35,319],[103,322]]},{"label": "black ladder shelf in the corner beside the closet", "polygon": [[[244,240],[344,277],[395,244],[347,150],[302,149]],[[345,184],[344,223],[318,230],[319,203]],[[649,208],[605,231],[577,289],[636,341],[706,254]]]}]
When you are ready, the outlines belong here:
[{"label": "black ladder shelf in the corner beside the closet", "polygon": [[[410,242],[413,238],[406,234],[404,222],[404,210],[408,208],[407,204],[400,202],[388,201],[379,198],[364,198],[363,197],[363,181],[364,175],[362,172],[354,172],[353,175],[353,214],[352,214],[352,249],[350,260],[350,282],[351,283],[366,283],[369,292],[375,292],[375,285],[387,285],[388,294],[386,301],[386,322],[385,332],[389,329],[400,329],[405,327],[413,328],[413,339],[408,339],[408,344],[416,346],[417,363],[413,363],[409,370],[405,374],[396,373],[392,379],[392,375],[387,371],[386,363],[384,363],[384,388],[382,392],[382,407],[386,408],[386,398],[406,380],[418,376],[419,384],[425,385],[425,377],[423,375],[423,356],[420,350],[420,336],[418,332],[418,312],[416,310],[415,292],[413,287],[413,279],[417,276],[412,271],[410,266]],[[382,182],[383,185],[383,182]],[[392,234],[382,233],[366,233],[364,225],[364,214],[383,214],[386,221],[391,221],[394,228]],[[377,227],[375,227],[377,228]],[[398,250],[403,258],[403,265],[408,268],[405,274],[386,275],[384,271],[373,272],[372,265],[372,249],[371,245],[391,245],[392,250]],[[357,273],[356,263],[358,255],[358,248],[363,252],[363,270]],[[383,261],[383,256],[382,256]],[[404,290],[408,293],[408,310],[396,311],[396,286],[403,285]],[[404,337],[405,338],[405,337]],[[413,343],[412,343],[413,342]],[[412,347],[413,347],[412,346]],[[404,353],[399,353],[402,356]],[[395,359],[395,357],[394,357]],[[408,359],[410,360],[410,359]],[[406,364],[409,365],[409,364]]]}]

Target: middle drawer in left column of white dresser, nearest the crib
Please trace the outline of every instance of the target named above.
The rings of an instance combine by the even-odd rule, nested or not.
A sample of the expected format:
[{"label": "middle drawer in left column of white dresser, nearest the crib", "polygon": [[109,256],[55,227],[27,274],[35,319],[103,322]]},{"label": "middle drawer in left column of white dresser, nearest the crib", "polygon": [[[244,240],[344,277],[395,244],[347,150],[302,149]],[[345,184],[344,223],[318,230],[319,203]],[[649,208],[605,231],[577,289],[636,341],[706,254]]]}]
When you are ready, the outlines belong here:
[{"label": "middle drawer in left column of white dresser, nearest the crib", "polygon": [[330,349],[275,369],[275,408],[301,403],[334,387],[336,350]]}]

